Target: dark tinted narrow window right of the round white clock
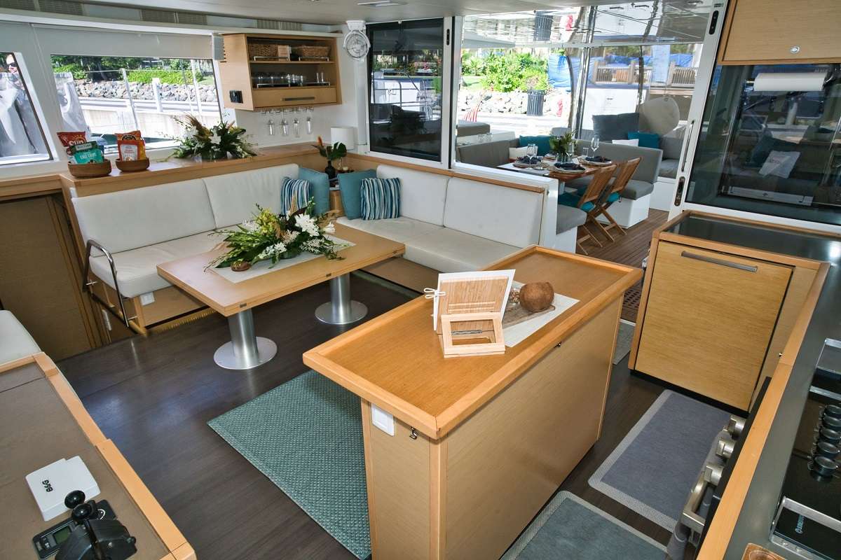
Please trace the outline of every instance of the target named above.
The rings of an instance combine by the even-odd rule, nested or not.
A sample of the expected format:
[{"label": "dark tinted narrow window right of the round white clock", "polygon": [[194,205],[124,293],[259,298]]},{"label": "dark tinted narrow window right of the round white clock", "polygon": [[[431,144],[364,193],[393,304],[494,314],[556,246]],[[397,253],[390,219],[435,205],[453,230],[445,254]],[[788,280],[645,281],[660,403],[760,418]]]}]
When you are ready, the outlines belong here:
[{"label": "dark tinted narrow window right of the round white clock", "polygon": [[371,150],[441,161],[444,20],[367,27]]}]

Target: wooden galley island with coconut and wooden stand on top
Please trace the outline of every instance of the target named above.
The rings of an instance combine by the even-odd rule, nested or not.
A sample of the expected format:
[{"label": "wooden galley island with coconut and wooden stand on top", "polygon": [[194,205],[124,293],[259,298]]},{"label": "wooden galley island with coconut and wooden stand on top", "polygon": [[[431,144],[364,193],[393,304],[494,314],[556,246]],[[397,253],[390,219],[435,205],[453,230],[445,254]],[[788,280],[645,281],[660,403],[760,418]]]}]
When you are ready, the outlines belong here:
[{"label": "wooden galley island with coconut and wooden stand on top", "polygon": [[642,272],[542,247],[489,269],[579,302],[500,355],[445,359],[422,297],[304,353],[362,400],[374,560],[500,557],[600,436],[622,296]]}]

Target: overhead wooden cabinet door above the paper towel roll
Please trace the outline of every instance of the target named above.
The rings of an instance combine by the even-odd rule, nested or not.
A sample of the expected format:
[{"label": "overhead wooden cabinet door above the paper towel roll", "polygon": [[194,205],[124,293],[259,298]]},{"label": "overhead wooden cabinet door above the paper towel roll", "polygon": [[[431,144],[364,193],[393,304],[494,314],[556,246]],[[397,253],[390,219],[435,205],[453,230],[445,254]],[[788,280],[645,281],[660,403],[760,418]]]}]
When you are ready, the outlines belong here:
[{"label": "overhead wooden cabinet door above the paper towel roll", "polygon": [[841,59],[841,2],[731,0],[722,64]]}]

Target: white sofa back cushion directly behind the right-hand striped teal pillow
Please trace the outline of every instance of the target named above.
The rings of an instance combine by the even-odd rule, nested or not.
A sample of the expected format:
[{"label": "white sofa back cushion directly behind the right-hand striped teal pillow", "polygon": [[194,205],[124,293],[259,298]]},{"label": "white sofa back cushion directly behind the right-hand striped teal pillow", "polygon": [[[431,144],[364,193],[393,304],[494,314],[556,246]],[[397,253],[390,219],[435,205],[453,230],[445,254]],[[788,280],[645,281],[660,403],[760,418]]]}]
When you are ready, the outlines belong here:
[{"label": "white sofa back cushion directly behind the right-hand striped teal pillow", "polygon": [[380,179],[400,180],[400,215],[421,222],[444,225],[444,203],[447,201],[447,175],[410,170],[394,165],[377,168]]}]

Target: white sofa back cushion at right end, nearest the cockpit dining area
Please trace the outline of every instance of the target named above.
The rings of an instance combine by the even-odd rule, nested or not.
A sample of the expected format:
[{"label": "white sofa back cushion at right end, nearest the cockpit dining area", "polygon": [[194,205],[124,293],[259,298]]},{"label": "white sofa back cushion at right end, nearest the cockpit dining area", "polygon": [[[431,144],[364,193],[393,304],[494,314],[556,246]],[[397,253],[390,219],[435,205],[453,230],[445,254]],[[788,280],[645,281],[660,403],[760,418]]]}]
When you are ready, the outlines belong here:
[{"label": "white sofa back cushion at right end, nearest the cockpit dining area", "polygon": [[540,240],[543,195],[453,177],[447,185],[444,227],[526,247]]}]

